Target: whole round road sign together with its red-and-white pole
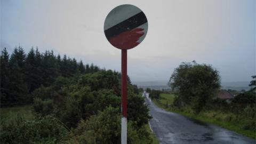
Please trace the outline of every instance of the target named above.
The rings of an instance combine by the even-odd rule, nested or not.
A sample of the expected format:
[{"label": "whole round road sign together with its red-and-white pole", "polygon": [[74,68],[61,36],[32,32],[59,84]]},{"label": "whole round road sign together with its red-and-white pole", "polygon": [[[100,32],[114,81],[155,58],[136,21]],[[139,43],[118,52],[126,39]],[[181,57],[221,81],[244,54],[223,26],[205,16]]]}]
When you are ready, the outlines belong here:
[{"label": "whole round road sign together with its red-and-white pole", "polygon": [[108,13],[104,23],[104,33],[109,43],[122,50],[122,144],[127,143],[127,50],[140,44],[147,31],[146,15],[130,4],[115,7]]}]

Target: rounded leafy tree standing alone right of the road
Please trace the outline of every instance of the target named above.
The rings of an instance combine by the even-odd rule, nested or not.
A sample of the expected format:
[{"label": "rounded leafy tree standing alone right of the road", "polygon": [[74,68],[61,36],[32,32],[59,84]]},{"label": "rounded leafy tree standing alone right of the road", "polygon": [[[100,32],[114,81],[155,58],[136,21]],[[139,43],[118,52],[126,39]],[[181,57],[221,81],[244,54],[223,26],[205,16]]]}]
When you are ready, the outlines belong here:
[{"label": "rounded leafy tree standing alone right of the road", "polygon": [[171,75],[169,86],[177,91],[178,103],[190,105],[195,113],[199,113],[217,94],[220,76],[211,65],[182,62]]}]

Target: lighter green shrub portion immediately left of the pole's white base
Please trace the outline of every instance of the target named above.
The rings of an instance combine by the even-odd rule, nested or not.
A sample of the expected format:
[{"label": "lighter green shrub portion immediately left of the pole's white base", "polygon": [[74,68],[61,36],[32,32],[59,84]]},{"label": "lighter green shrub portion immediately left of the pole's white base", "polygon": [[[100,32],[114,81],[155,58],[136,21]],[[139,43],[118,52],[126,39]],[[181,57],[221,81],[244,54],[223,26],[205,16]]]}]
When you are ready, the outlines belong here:
[{"label": "lighter green shrub portion immediately left of the pole's white base", "polygon": [[70,134],[66,143],[118,143],[120,141],[119,110],[108,107],[87,121],[81,120],[77,128]]}]

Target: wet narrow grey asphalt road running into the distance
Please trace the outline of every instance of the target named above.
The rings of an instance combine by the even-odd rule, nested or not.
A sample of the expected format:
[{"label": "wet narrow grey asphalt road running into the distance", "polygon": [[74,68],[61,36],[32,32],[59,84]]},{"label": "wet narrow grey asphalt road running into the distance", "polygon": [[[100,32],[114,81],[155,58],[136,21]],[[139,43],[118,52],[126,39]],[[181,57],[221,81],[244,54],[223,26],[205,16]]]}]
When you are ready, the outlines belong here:
[{"label": "wet narrow grey asphalt road running into the distance", "polygon": [[143,94],[146,97],[146,104],[149,108],[149,114],[153,116],[149,124],[151,130],[162,144],[166,143],[253,143],[256,141],[244,137],[243,135],[223,129],[221,127],[202,123],[188,117],[171,113],[158,108],[149,99],[149,94]]}]

